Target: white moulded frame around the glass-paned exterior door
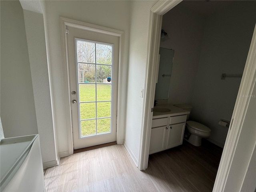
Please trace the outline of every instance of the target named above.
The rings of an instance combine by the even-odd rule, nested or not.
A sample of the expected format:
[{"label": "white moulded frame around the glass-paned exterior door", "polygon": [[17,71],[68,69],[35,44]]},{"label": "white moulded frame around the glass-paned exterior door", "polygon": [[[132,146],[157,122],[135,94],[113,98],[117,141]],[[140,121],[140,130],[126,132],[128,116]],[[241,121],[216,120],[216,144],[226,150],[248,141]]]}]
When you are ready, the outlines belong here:
[{"label": "white moulded frame around the glass-paned exterior door", "polygon": [[76,20],[71,20],[67,18],[60,17],[60,27],[61,27],[61,36],[62,36],[62,55],[63,55],[63,62],[64,62],[64,75],[65,75],[65,81],[64,81],[64,90],[65,95],[64,98],[66,100],[66,124],[68,125],[68,153],[69,155],[73,154],[74,148],[73,148],[73,134],[72,134],[72,118],[71,118],[71,105],[70,105],[70,86],[69,86],[69,73],[68,73],[68,55],[67,55],[67,49],[66,49],[66,26],[70,26],[73,28],[78,28],[82,30],[88,30],[93,32],[98,32],[102,34],[108,34],[112,36],[119,37],[119,60],[118,60],[118,102],[117,102],[117,125],[116,125],[116,142],[117,144],[122,144],[121,140],[121,132],[122,127],[119,126],[121,124],[120,120],[120,108],[121,108],[121,102],[122,102],[122,31],[114,30],[102,26],[96,26],[93,24],[88,24]]}]

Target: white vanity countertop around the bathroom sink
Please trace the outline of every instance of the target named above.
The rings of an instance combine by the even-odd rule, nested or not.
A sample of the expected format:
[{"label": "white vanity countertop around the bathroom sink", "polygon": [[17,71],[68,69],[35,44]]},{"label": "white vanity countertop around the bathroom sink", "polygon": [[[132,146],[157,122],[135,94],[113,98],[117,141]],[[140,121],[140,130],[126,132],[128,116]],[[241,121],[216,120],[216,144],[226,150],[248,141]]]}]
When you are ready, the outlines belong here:
[{"label": "white vanity countertop around the bathroom sink", "polygon": [[169,112],[153,112],[153,119],[156,118],[164,118],[164,117],[168,117],[168,116],[178,116],[178,115],[186,115],[186,114],[190,114],[189,111],[184,110],[182,108],[178,108],[176,106],[173,106],[171,104],[159,104],[157,105],[158,107],[164,107],[164,108],[168,108],[171,111]]}]

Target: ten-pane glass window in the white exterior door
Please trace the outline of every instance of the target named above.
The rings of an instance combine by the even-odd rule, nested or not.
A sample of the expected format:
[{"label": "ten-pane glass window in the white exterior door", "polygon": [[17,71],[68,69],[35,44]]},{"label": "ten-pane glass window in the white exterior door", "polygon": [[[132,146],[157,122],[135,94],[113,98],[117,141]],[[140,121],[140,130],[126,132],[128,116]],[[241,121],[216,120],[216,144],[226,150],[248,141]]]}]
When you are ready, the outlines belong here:
[{"label": "ten-pane glass window in the white exterior door", "polygon": [[[103,134],[111,132],[110,122],[111,122],[111,85],[112,85],[112,45],[99,44],[95,42],[87,42],[83,40],[76,40],[77,44],[83,46],[82,44],[90,45],[87,50],[90,50],[90,57],[83,58],[79,57],[77,54],[78,63],[78,85],[95,85],[95,98],[90,100],[79,99],[79,106],[83,104],[83,109],[87,111],[85,106],[87,104],[95,103],[95,110],[88,109],[89,111],[95,111],[95,118],[82,118],[90,117],[86,112],[82,112],[79,115],[80,120],[80,136],[92,136],[97,134]],[[80,43],[78,43],[80,42]],[[78,45],[77,45],[78,48]],[[94,49],[94,53],[92,52]],[[78,53],[78,52],[77,52]],[[80,53],[84,51],[80,50]],[[92,58],[92,56],[94,58]],[[105,57],[102,57],[105,56]],[[89,87],[87,87],[89,88]],[[80,90],[78,90],[80,92]],[[81,89],[82,91],[82,89]],[[89,92],[88,90],[84,90]],[[82,94],[81,94],[82,95]],[[80,97],[80,94],[78,94]],[[105,104],[104,104],[105,102]],[[90,105],[89,105],[90,106]],[[99,111],[98,111],[99,110]],[[81,106],[79,107],[79,112],[81,113]],[[109,116],[110,115],[110,116]],[[98,127],[99,126],[99,127]],[[88,130],[85,130],[88,129]],[[94,131],[93,131],[94,130]]]}]

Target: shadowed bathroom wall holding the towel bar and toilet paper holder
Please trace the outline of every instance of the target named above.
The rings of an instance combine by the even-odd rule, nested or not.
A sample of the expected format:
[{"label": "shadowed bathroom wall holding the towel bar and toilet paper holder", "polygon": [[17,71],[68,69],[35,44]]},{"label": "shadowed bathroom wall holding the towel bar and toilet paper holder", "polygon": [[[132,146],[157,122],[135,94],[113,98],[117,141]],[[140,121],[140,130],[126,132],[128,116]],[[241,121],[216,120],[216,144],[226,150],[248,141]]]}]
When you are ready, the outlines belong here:
[{"label": "shadowed bathroom wall holding the towel bar and toilet paper holder", "polygon": [[234,1],[210,16],[204,30],[190,117],[210,127],[209,140],[221,147],[228,128],[218,122],[230,120],[241,78],[221,80],[220,75],[242,74],[256,21],[255,8],[255,1]]}]

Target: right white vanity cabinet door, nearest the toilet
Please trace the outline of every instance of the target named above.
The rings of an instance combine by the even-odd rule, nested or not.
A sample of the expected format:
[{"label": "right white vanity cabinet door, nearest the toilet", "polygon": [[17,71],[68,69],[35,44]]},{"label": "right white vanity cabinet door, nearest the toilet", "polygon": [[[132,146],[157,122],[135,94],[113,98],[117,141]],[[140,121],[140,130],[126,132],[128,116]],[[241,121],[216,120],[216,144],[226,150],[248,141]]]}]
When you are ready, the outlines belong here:
[{"label": "right white vanity cabinet door, nearest the toilet", "polygon": [[186,126],[186,123],[169,125],[166,149],[176,147],[182,144],[185,126]]}]

